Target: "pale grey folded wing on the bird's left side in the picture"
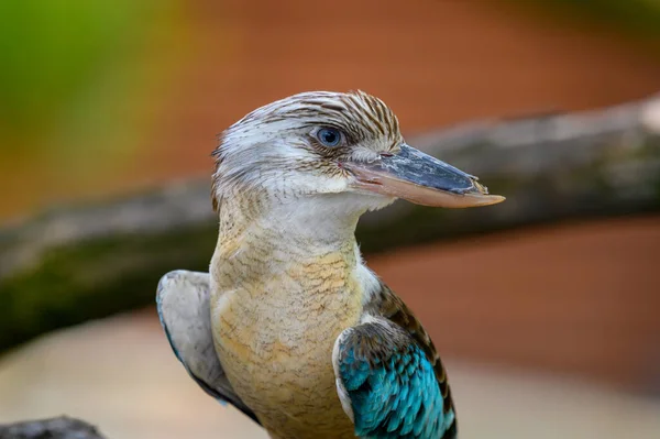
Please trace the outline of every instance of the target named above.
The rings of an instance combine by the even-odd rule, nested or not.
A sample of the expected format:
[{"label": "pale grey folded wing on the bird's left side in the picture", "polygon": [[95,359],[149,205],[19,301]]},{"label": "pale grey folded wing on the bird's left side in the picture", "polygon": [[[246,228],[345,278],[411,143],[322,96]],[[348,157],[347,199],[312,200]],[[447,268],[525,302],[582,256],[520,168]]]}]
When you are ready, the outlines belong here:
[{"label": "pale grey folded wing on the bird's left side in the picture", "polygon": [[258,424],[235,394],[216,354],[209,308],[209,274],[169,272],[161,278],[156,304],[169,345],[188,374],[210,396],[231,403]]}]

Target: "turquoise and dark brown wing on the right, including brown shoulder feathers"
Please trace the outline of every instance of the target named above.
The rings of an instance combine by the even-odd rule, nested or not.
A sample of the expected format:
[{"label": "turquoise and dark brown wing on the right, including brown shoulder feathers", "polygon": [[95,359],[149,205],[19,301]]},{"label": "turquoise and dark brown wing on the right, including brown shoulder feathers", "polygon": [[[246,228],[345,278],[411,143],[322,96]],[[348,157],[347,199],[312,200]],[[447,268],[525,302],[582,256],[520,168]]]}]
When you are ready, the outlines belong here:
[{"label": "turquoise and dark brown wing on the right, including brown shoulder feathers", "polygon": [[355,435],[455,438],[447,374],[419,320],[383,283],[364,311],[332,352],[338,394]]}]

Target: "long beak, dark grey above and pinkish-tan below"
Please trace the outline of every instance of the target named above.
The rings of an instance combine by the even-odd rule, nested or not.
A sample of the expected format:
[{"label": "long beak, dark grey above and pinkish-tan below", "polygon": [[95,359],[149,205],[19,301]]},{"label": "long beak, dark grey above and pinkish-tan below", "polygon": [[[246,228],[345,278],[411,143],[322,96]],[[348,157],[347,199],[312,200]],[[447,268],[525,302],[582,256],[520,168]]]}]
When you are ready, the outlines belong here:
[{"label": "long beak, dark grey above and pinkish-tan below", "polygon": [[345,162],[353,186],[422,206],[464,208],[505,200],[488,195],[476,177],[406,144],[397,154],[382,154],[373,162]]}]

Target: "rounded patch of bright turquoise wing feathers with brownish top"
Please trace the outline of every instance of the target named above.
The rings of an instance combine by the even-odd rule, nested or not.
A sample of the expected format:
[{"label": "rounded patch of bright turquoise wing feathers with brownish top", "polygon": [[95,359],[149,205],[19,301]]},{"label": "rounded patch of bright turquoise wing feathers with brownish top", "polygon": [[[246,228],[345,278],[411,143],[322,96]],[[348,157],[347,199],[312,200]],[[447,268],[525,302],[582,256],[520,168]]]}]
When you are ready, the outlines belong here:
[{"label": "rounded patch of bright turquoise wing feathers with brownish top", "polygon": [[425,351],[400,328],[366,323],[339,340],[338,375],[363,438],[439,439],[453,427]]}]

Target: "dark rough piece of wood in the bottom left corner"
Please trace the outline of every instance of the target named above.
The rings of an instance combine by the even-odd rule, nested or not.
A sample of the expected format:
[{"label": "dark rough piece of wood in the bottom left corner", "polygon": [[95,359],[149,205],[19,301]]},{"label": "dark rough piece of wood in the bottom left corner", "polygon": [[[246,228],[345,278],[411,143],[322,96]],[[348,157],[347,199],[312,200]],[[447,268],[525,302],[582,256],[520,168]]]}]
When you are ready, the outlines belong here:
[{"label": "dark rough piece of wood in the bottom left corner", "polygon": [[66,416],[0,425],[0,439],[103,439],[96,427]]}]

